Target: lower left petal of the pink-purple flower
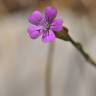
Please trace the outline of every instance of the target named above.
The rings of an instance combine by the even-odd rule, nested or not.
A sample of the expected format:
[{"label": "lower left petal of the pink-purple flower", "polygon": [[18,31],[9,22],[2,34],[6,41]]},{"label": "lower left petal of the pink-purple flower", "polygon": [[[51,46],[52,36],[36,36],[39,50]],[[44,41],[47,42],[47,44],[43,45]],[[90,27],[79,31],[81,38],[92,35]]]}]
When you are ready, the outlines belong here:
[{"label": "lower left petal of the pink-purple flower", "polygon": [[32,25],[31,27],[28,28],[28,34],[30,38],[36,39],[41,35],[41,30],[42,30],[41,26]]}]

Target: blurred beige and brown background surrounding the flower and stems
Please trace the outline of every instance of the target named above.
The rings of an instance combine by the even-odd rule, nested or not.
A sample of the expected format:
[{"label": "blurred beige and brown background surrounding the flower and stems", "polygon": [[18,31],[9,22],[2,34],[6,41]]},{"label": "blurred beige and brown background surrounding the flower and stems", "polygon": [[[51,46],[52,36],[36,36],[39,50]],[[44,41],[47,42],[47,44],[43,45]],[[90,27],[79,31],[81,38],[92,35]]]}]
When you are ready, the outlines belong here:
[{"label": "blurred beige and brown background surrounding the flower and stems", "polygon": [[96,96],[96,68],[70,43],[29,38],[27,16],[49,5],[96,61],[96,0],[0,0],[0,96],[45,96],[50,55],[52,96]]}]

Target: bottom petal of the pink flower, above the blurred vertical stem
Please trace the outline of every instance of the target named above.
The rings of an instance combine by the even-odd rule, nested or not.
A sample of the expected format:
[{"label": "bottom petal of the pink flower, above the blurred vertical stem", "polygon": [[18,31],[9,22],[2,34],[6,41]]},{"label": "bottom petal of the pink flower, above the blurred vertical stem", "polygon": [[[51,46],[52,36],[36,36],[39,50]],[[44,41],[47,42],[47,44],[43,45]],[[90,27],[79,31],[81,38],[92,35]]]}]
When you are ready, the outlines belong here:
[{"label": "bottom petal of the pink flower, above the blurred vertical stem", "polygon": [[55,39],[56,39],[56,37],[52,30],[49,30],[49,32],[44,33],[42,36],[42,41],[44,43],[53,42],[53,41],[55,41]]}]

